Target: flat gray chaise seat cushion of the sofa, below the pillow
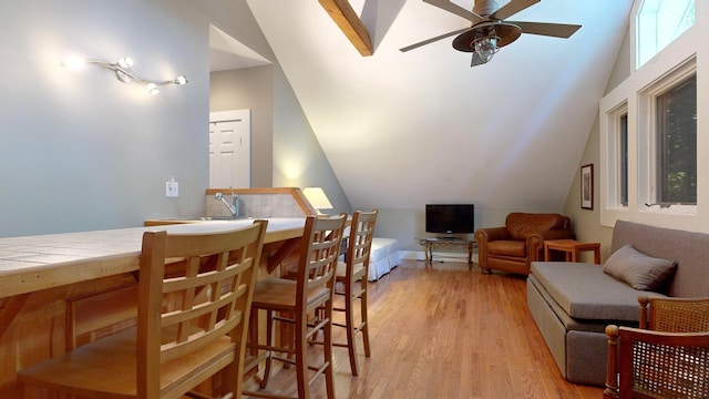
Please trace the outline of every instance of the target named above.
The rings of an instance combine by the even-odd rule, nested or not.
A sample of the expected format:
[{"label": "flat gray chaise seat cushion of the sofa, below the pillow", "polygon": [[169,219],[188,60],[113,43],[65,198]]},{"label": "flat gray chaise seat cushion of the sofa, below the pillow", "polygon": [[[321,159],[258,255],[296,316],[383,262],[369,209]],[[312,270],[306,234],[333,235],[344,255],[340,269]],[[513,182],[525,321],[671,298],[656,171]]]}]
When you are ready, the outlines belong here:
[{"label": "flat gray chaise seat cushion of the sofa, below the pillow", "polygon": [[534,262],[532,274],[576,319],[638,321],[638,296],[662,296],[636,290],[596,264]]}]

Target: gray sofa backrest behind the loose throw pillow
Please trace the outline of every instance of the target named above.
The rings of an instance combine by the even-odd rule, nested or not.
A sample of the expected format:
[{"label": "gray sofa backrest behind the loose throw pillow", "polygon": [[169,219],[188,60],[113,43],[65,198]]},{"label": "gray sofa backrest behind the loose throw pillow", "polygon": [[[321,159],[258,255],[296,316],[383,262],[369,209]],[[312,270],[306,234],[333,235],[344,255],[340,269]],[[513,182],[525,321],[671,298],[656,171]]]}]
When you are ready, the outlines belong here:
[{"label": "gray sofa backrest behind the loose throw pillow", "polygon": [[677,263],[675,276],[662,291],[675,297],[709,296],[709,234],[617,221],[610,253],[626,244],[649,256]]}]

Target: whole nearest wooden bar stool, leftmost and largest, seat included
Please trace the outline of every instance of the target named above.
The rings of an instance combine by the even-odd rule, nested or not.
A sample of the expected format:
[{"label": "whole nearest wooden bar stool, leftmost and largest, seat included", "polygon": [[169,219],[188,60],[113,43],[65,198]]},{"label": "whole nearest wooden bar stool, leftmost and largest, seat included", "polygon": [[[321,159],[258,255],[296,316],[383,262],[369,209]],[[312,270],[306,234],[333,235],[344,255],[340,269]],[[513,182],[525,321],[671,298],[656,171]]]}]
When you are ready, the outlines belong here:
[{"label": "whole nearest wooden bar stool, leftmost and largest, seat included", "polygon": [[145,233],[137,327],[20,370],[24,397],[182,398],[224,370],[222,398],[239,398],[266,225]]}]

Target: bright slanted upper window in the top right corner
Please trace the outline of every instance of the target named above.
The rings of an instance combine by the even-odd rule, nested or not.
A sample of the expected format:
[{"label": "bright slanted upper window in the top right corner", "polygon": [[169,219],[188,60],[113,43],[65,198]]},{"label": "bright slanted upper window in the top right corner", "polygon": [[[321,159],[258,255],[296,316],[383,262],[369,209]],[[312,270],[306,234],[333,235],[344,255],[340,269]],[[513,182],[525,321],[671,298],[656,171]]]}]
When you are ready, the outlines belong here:
[{"label": "bright slanted upper window in the top right corner", "polygon": [[643,66],[695,24],[695,0],[639,0],[636,68]]}]

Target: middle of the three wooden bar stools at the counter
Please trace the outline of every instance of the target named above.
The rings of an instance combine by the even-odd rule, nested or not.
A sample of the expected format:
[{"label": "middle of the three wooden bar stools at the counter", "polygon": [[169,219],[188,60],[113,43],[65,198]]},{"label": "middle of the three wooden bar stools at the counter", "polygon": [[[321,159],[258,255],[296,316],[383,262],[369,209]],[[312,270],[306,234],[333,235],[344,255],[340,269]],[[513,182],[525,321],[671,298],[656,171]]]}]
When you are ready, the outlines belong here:
[{"label": "middle of the three wooden bar stools at the counter", "polygon": [[[335,398],[335,379],[332,375],[332,298],[335,293],[335,272],[347,214],[333,217],[308,216],[300,244],[300,256],[296,279],[267,277],[256,283],[251,314],[266,311],[266,344],[258,342],[258,334],[251,329],[249,347],[265,350],[253,359],[246,369],[251,369],[265,357],[266,366],[260,381],[260,390],[244,391],[246,396],[264,398],[284,398],[282,395],[268,392],[273,360],[296,366],[298,398],[310,397],[310,382],[325,375],[327,397]],[[315,325],[308,325],[308,315],[316,309],[323,309],[323,317]],[[285,317],[291,315],[292,318]],[[251,319],[251,321],[254,318]],[[274,324],[282,323],[292,326],[292,339],[281,339],[277,345],[274,337]],[[308,341],[319,331],[323,332],[323,359],[314,367],[308,360]],[[291,345],[295,344],[295,345]],[[294,348],[295,346],[295,348]],[[295,357],[295,360],[291,359]],[[309,370],[315,375],[310,376]]]}]

